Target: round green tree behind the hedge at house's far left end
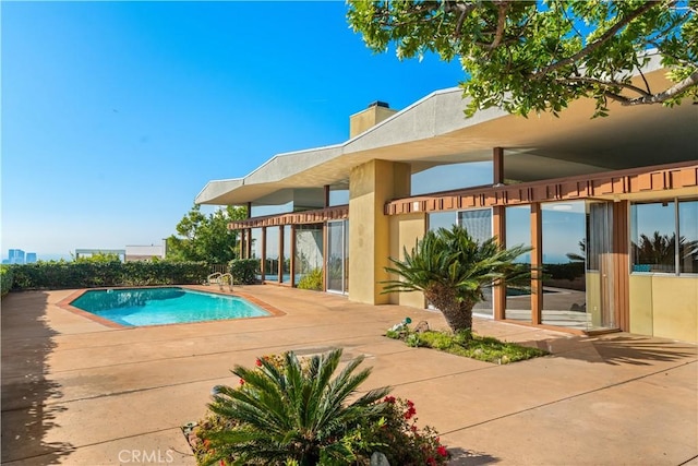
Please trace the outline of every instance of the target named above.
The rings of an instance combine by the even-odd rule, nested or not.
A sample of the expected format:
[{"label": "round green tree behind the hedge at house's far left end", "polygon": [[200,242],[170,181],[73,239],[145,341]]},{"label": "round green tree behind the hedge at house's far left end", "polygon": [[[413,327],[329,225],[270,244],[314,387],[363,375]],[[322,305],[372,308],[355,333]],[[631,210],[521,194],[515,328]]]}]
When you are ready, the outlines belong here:
[{"label": "round green tree behind the hedge at house's far left end", "polygon": [[228,230],[228,223],[246,218],[246,213],[245,207],[228,205],[204,215],[195,204],[177,224],[179,236],[167,238],[167,258],[227,264],[238,256],[238,234]]}]

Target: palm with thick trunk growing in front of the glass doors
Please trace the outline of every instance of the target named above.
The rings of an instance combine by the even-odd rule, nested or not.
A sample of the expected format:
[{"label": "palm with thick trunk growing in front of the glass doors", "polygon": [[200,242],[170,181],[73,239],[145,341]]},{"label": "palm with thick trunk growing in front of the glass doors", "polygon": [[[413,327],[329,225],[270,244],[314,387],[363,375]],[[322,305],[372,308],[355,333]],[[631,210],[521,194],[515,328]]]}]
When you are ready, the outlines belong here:
[{"label": "palm with thick trunk growing in front of the glass doors", "polygon": [[529,275],[524,264],[514,263],[527,251],[524,246],[503,249],[495,238],[478,242],[457,225],[430,230],[411,253],[405,249],[405,260],[390,258],[394,266],[386,271],[398,279],[384,282],[384,292],[423,291],[452,331],[469,330],[472,308],[484,300],[483,288]]}]

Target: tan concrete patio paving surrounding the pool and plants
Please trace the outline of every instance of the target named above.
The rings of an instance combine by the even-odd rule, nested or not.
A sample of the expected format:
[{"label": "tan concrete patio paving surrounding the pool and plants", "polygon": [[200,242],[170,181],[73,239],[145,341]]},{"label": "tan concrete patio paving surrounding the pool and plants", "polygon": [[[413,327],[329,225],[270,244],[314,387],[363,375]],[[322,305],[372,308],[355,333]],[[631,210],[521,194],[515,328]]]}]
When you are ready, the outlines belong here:
[{"label": "tan concrete patio paving surrounding the pool and plants", "polygon": [[457,465],[698,465],[696,345],[576,337],[477,320],[476,331],[553,356],[496,366],[382,335],[406,315],[274,286],[239,287],[275,318],[115,330],[61,309],[73,291],[2,299],[2,463],[194,464],[180,426],[257,356],[345,348],[442,433]]}]

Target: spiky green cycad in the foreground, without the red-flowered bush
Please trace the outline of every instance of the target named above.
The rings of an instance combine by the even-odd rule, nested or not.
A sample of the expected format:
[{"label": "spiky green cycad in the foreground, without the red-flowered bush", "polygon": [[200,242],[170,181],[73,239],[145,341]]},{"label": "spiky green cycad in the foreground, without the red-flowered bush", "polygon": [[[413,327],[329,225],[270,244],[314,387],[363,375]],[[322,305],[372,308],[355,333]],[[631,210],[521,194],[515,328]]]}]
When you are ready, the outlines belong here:
[{"label": "spiky green cycad in the foreground, without the red-flowered bush", "polygon": [[348,402],[371,369],[354,373],[363,357],[358,357],[333,378],[341,358],[341,349],[313,356],[301,363],[292,353],[284,362],[260,359],[260,368],[237,366],[233,373],[242,387],[219,386],[213,413],[233,420],[233,427],[209,437],[215,454],[234,458],[234,464],[315,465],[348,464],[354,458],[347,433],[363,421],[378,420],[385,403],[377,403],[388,387],[372,390]]}]

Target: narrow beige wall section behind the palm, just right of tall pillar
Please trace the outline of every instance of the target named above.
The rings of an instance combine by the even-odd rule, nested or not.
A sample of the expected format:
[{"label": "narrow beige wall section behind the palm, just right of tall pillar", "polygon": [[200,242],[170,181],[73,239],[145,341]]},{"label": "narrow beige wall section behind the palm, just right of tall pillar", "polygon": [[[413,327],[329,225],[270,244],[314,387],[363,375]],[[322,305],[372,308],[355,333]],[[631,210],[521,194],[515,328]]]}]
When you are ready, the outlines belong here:
[{"label": "narrow beige wall section behind the palm, just right of tall pillar", "polygon": [[[418,239],[424,237],[426,231],[426,214],[417,213],[390,217],[390,258],[405,259],[405,248],[411,251]],[[390,278],[396,278],[390,276]],[[393,292],[389,295],[392,304],[409,306],[424,309],[426,302],[424,294]]]}]

